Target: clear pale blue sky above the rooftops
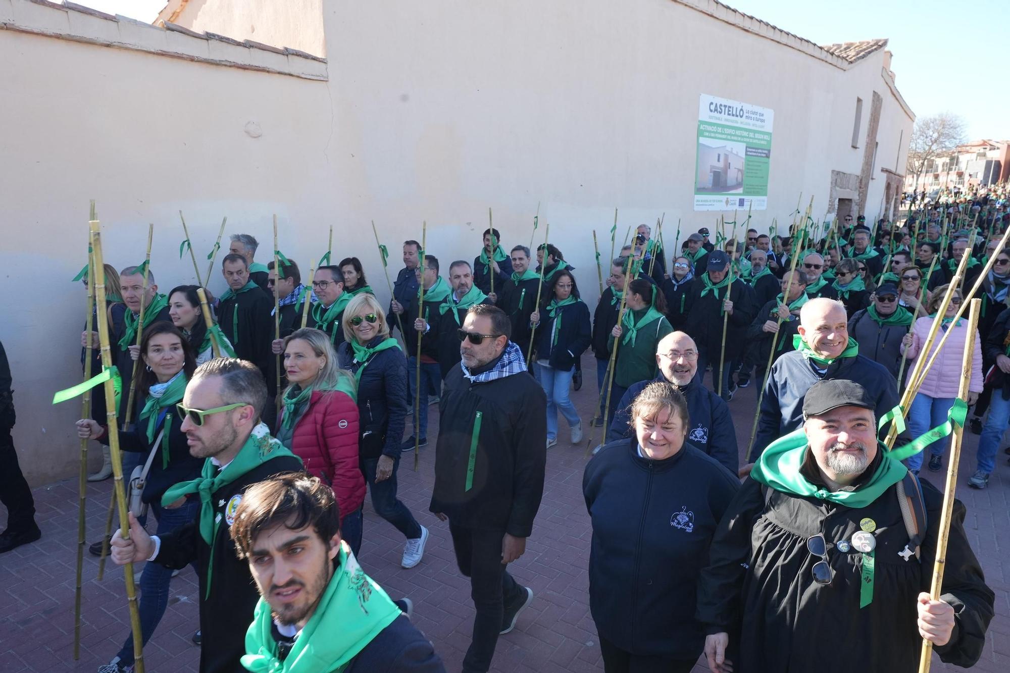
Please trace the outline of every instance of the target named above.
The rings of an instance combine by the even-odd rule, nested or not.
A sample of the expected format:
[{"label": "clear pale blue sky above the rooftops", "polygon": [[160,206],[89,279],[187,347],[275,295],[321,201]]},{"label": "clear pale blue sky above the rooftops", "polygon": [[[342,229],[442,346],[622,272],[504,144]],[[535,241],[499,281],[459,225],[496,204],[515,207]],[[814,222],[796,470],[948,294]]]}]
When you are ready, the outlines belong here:
[{"label": "clear pale blue sky above the rooftops", "polygon": [[[887,37],[898,90],[916,116],[954,112],[965,118],[969,139],[1010,139],[1010,82],[1003,63],[1010,0],[723,1],[817,44]],[[153,21],[166,5],[77,2],[143,21]]]}]

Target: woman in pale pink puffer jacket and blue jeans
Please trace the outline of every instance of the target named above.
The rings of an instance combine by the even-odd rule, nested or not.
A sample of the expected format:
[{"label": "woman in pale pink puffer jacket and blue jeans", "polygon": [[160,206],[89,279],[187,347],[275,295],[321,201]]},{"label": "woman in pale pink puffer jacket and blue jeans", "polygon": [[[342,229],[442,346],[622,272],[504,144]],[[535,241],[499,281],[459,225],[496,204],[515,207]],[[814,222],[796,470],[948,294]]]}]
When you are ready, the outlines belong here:
[{"label": "woman in pale pink puffer jacket and blue jeans", "polygon": [[[922,345],[929,335],[929,328],[933,324],[933,317],[935,317],[936,311],[939,310],[940,303],[943,301],[943,296],[946,294],[948,287],[948,285],[940,285],[936,288],[936,292],[926,302],[925,310],[929,315],[917,319],[915,324],[912,325],[912,331],[902,340],[902,352],[906,359],[913,361],[916,358],[926,358],[928,362],[929,358],[936,351],[936,346],[939,344],[942,334],[936,336],[936,341],[930,348],[929,354],[922,352]],[[922,386],[919,388],[919,392],[916,393],[915,398],[912,400],[912,406],[908,410],[908,428],[911,430],[912,437],[921,437],[929,428],[943,424],[947,418],[947,412],[950,411],[950,407],[953,406],[954,399],[957,397],[957,388],[962,379],[962,354],[965,352],[965,342],[969,338],[968,320],[966,318],[958,318],[956,324],[952,324],[953,315],[961,308],[961,302],[962,294],[960,291],[955,291],[950,299],[950,303],[947,304],[946,313],[941,323],[943,331],[949,331],[950,335],[943,344],[943,350],[933,362],[932,367],[926,372],[922,380]],[[909,362],[905,367],[906,372],[911,372],[913,369],[915,369],[913,362]],[[979,393],[982,392],[982,343],[976,339],[975,355],[972,359],[972,380],[968,386],[969,406],[975,404],[975,401],[978,399]],[[945,447],[946,442],[943,440],[933,442],[926,449],[923,449],[922,453],[911,456],[906,461],[908,469],[918,474],[919,468],[922,467],[923,456],[928,450],[929,471],[939,472],[943,467],[943,450]]]}]

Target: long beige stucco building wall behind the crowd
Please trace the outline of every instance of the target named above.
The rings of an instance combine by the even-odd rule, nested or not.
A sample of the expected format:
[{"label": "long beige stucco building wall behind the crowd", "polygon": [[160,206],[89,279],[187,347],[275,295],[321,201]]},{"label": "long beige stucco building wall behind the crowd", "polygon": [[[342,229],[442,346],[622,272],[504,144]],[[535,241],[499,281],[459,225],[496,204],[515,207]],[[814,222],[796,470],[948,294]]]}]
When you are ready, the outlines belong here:
[{"label": "long beige stucco building wall behind the crowd", "polygon": [[[334,224],[334,257],[361,257],[383,300],[370,219],[394,260],[426,219],[427,250],[447,263],[473,259],[488,206],[504,244],[528,244],[539,202],[538,234],[549,221],[593,305],[591,229],[606,258],[614,206],[618,245],[664,211],[670,249],[679,217],[683,239],[717,216],[691,210],[699,94],[775,110],[758,228],[787,217],[800,192],[822,213],[830,171],[858,173],[856,95],[882,93],[892,135],[911,126],[884,90],[882,55],[846,72],[670,0],[328,0],[322,12],[328,82],[0,30],[0,128],[13,131],[0,135],[0,340],[33,483],[72,474],[77,460],[77,408],[48,402],[80,376],[84,296],[70,278],[84,263],[89,198],[117,267],[140,261],[156,223],[163,289],[193,280],[178,210],[201,255],[223,215],[269,251],[276,212],[281,249],[303,267]],[[884,181],[873,182],[875,209]],[[28,279],[39,273],[35,296]]]}]

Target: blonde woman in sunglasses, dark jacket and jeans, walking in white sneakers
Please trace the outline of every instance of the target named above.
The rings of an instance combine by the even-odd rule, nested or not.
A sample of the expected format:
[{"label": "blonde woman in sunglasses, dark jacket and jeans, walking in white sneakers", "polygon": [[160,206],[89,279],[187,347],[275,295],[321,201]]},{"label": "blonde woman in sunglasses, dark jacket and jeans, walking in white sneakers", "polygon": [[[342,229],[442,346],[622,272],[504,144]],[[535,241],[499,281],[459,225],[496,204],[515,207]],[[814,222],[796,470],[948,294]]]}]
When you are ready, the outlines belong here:
[{"label": "blonde woman in sunglasses, dark jacket and jeans, walking in white sneakers", "polygon": [[343,311],[343,335],[346,341],[337,348],[337,362],[358,380],[361,470],[376,513],[407,539],[400,565],[413,568],[424,555],[428,530],[396,496],[403,429],[411,408],[407,359],[389,335],[386,313],[375,295],[350,300]]}]

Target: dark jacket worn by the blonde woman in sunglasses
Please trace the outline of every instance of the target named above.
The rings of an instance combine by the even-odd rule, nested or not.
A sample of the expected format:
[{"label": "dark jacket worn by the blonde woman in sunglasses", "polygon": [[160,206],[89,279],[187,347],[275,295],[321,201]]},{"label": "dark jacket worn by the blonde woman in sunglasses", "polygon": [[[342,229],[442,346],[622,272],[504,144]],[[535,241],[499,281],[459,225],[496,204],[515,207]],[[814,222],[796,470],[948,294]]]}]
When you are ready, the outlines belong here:
[{"label": "dark jacket worn by the blonde woman in sunglasses", "polygon": [[[375,348],[383,339],[369,342]],[[337,364],[357,374],[362,363],[355,361],[350,344],[340,344],[336,351]],[[389,456],[400,457],[403,427],[410,413],[410,391],[407,389],[407,359],[399,348],[380,351],[369,358],[358,382],[358,417],[361,440],[359,455],[363,459]]]}]

